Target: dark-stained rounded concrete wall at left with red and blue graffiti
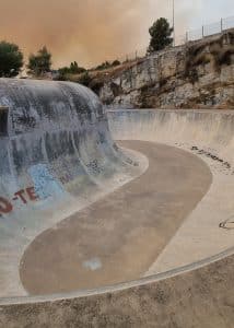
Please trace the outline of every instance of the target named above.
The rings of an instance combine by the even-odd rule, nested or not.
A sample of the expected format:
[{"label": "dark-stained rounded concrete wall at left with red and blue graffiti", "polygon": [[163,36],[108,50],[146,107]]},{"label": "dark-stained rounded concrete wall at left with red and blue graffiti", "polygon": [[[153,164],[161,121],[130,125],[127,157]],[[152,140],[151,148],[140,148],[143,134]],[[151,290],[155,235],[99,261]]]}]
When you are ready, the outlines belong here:
[{"label": "dark-stained rounded concrete wall at left with red and blue graffiti", "polygon": [[[0,79],[0,297],[42,231],[138,171],[112,141],[97,96],[66,82]],[[121,181],[119,181],[121,178]]]}]

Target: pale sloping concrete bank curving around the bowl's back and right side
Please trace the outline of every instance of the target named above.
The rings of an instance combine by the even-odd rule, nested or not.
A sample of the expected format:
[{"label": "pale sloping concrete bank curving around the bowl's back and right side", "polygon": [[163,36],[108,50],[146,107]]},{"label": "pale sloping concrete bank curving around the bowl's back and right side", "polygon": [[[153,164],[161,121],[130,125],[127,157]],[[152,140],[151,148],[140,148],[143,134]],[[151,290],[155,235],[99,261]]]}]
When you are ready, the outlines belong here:
[{"label": "pale sloping concrete bank curving around the bowl's back and right side", "polygon": [[[234,113],[222,110],[115,110],[108,114],[115,139],[175,145],[209,165],[211,188],[145,272],[165,272],[233,247],[234,230],[220,224],[234,214]],[[179,255],[179,256],[178,256]]]}]

